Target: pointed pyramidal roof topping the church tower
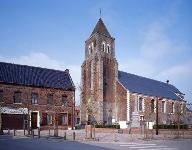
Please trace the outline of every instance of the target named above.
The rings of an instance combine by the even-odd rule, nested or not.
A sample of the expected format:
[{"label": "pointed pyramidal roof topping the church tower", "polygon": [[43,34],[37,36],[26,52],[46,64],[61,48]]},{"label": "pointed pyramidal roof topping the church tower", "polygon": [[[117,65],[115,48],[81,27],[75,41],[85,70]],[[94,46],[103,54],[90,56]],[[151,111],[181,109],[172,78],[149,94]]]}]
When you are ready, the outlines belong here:
[{"label": "pointed pyramidal roof topping the church tower", "polygon": [[111,37],[109,31],[107,30],[105,24],[103,23],[103,20],[100,18],[99,21],[97,22],[93,32],[91,33],[91,36],[94,34],[94,33],[100,33],[100,34],[103,34],[105,36],[108,36],[108,37]]}]

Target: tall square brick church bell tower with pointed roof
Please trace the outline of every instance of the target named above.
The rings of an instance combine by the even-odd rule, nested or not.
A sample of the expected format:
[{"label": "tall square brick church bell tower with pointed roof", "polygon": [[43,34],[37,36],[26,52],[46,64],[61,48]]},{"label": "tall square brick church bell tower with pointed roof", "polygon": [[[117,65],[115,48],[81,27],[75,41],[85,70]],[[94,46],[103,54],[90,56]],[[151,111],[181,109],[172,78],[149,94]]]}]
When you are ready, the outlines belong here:
[{"label": "tall square brick church bell tower with pointed roof", "polygon": [[[85,60],[81,66],[82,123],[94,120],[112,124],[116,120],[117,75],[115,39],[100,18],[85,41]],[[89,108],[93,114],[91,118]]]}]

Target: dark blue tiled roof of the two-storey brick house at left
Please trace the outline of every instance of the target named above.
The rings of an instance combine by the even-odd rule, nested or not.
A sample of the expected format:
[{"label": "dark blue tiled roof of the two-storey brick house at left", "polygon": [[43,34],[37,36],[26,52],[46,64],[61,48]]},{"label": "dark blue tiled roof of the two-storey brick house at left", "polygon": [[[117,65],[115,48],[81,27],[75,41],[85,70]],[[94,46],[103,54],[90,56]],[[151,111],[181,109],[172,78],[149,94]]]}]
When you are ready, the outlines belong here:
[{"label": "dark blue tiled roof of the two-storey brick house at left", "polygon": [[0,62],[0,83],[74,90],[67,71]]}]

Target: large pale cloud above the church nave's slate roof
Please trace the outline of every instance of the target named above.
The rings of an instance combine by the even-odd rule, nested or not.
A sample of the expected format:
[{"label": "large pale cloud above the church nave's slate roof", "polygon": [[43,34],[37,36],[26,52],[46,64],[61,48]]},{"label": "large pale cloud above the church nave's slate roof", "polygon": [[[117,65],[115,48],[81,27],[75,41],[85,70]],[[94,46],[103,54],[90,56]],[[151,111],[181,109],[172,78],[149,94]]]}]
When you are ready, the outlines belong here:
[{"label": "large pale cloud above the church nave's slate roof", "polygon": [[120,70],[160,81],[169,79],[191,101],[192,61],[180,59],[189,50],[188,45],[170,38],[168,26],[160,21],[149,24],[141,35],[143,42],[138,56],[120,62]]}]

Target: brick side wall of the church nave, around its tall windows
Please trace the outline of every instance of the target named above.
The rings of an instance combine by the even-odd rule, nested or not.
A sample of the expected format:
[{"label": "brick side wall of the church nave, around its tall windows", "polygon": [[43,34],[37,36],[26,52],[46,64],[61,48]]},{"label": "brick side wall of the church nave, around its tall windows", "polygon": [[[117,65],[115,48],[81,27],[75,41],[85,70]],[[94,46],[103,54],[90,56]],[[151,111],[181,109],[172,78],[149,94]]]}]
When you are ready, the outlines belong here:
[{"label": "brick side wall of the church nave, around its tall windows", "polygon": [[[137,93],[130,94],[130,112],[134,111],[135,100],[138,100],[138,97],[143,98],[143,111],[140,111],[140,116],[144,116],[146,121],[156,121],[156,98],[146,95],[141,95]],[[151,100],[155,100],[155,109],[154,112],[151,111]],[[165,101],[165,112],[162,112],[162,101]],[[174,110],[175,112],[172,113],[172,102],[174,102]],[[179,100],[170,100],[170,99],[159,99],[158,100],[158,119],[159,123],[171,123],[171,122],[178,122],[178,120],[182,120],[180,104],[183,104],[183,109],[185,107],[184,102]]]}]

